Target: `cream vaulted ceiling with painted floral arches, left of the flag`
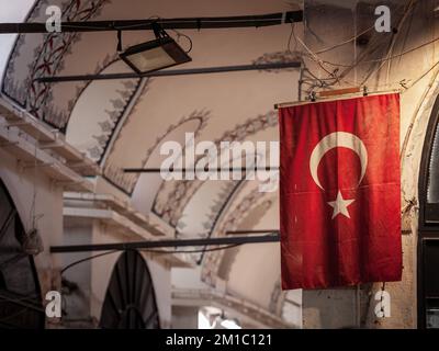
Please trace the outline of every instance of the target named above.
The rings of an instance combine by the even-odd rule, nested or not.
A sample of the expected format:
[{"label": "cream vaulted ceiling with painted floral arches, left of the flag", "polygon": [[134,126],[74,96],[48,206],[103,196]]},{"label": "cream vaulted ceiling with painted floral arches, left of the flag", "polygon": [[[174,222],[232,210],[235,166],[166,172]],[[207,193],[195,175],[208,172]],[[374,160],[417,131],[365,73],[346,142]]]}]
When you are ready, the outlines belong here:
[{"label": "cream vaulted ceiling with painted floral arches, left of the flag", "polygon": [[[58,4],[69,21],[224,16],[296,10],[283,0],[40,0],[29,22],[45,21]],[[192,61],[181,68],[293,60],[288,49],[291,24],[259,29],[184,30],[193,42]],[[299,31],[297,31],[299,32]],[[169,34],[175,36],[173,32]],[[123,46],[153,38],[149,32],[123,32]],[[180,231],[214,235],[229,202],[254,185],[228,181],[162,181],[157,174],[123,173],[123,168],[159,168],[159,147],[182,141],[277,140],[273,104],[295,100],[299,71],[245,71],[149,79],[38,83],[47,76],[124,72],[114,32],[20,35],[11,52],[1,92],[99,162],[103,179]],[[180,37],[180,45],[189,43]],[[291,49],[294,50],[294,43]],[[179,68],[180,68],[179,67]],[[247,189],[247,190],[246,190]],[[209,201],[207,201],[207,200]],[[277,213],[272,212],[277,220]],[[196,226],[193,220],[201,220]],[[273,223],[277,223],[277,222]],[[184,229],[185,223],[185,229]],[[188,227],[188,223],[192,223]],[[189,235],[189,233],[185,233]]]}]

